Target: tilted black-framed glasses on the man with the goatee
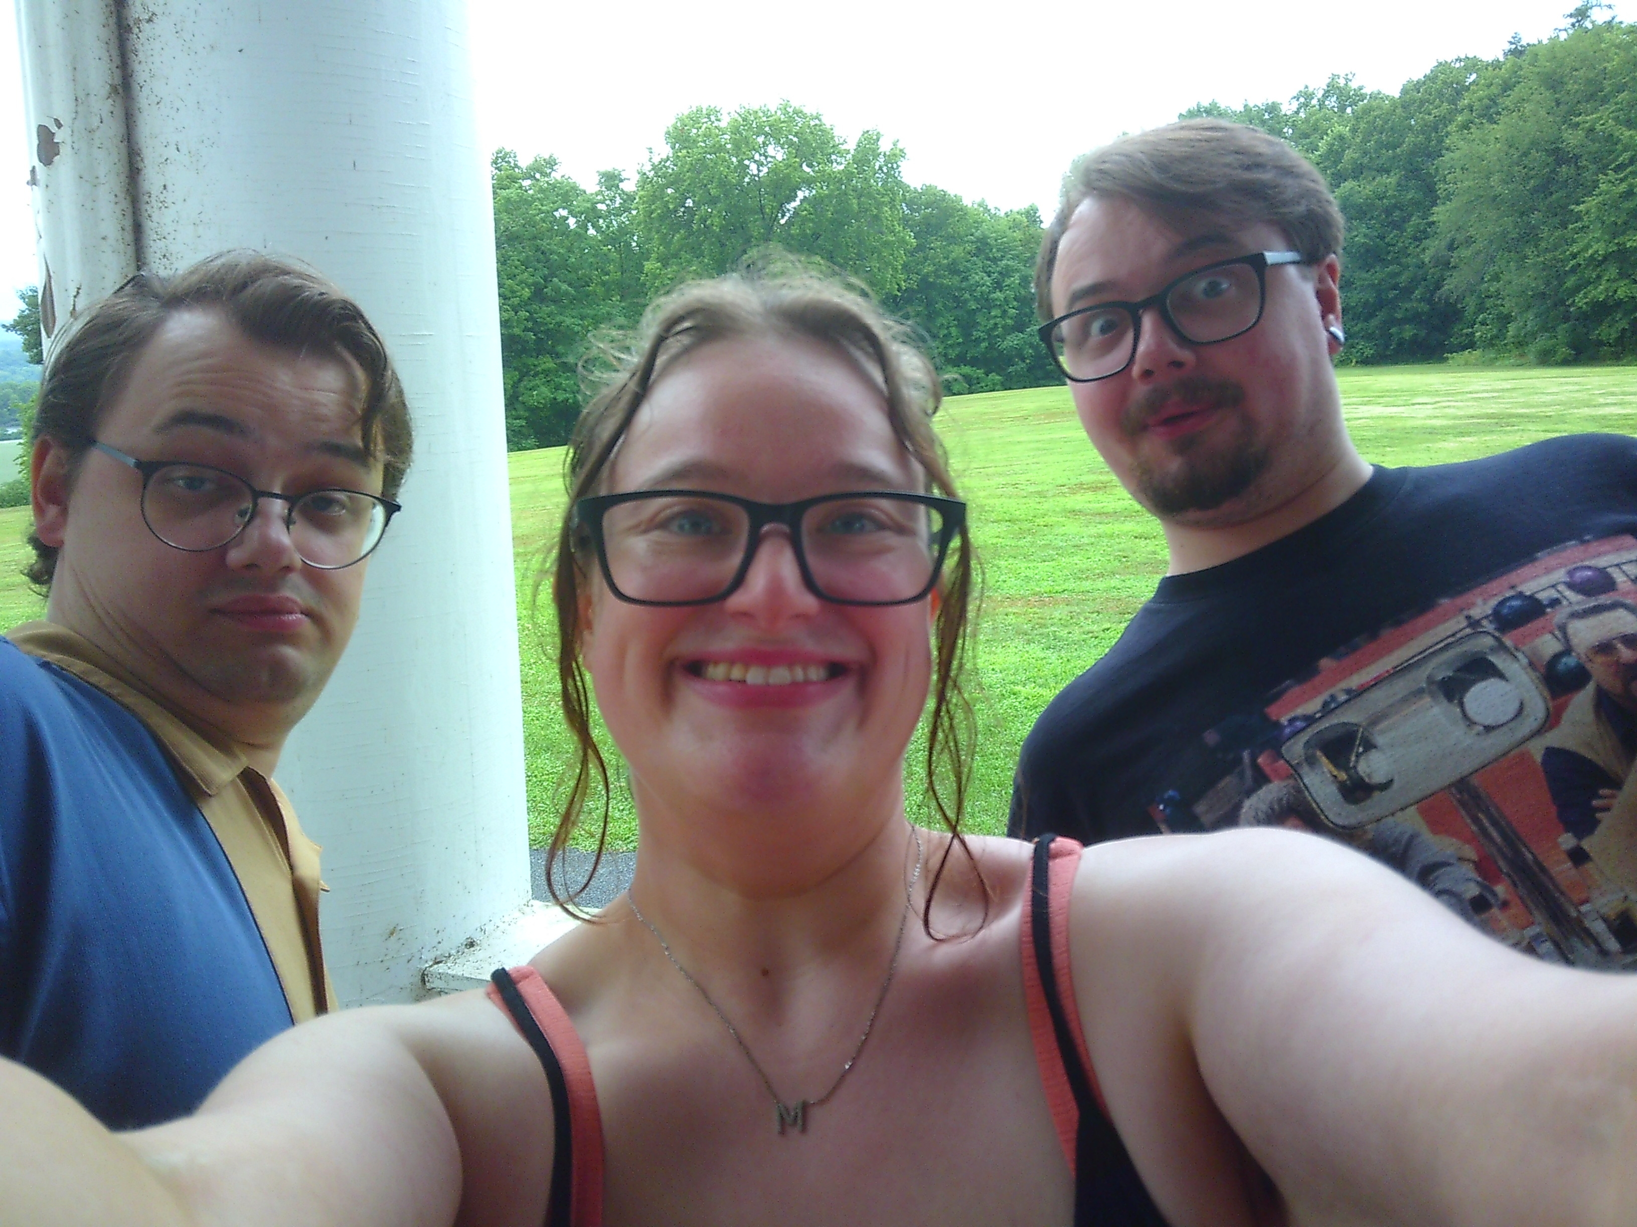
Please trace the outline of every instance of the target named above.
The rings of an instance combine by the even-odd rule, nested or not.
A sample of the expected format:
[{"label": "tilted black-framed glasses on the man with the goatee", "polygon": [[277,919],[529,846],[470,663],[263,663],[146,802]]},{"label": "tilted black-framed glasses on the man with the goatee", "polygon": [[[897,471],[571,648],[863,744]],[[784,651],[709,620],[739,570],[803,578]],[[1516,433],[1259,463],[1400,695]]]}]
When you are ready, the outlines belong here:
[{"label": "tilted black-framed glasses on the man with the goatee", "polygon": [[1301,252],[1252,252],[1184,273],[1141,303],[1094,303],[1039,326],[1039,339],[1066,380],[1108,380],[1136,357],[1143,312],[1159,308],[1166,326],[1190,345],[1233,340],[1262,319],[1267,270],[1308,263]]}]

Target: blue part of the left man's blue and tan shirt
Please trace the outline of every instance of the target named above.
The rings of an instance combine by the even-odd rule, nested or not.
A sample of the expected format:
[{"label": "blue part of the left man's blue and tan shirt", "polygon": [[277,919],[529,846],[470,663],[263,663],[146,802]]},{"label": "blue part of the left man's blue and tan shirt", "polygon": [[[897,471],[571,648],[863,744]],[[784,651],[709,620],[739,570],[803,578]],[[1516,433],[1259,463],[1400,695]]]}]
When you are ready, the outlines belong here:
[{"label": "blue part of the left man's blue and tan shirt", "polygon": [[0,1055],[136,1129],[291,1024],[216,834],[131,712],[0,638]]}]

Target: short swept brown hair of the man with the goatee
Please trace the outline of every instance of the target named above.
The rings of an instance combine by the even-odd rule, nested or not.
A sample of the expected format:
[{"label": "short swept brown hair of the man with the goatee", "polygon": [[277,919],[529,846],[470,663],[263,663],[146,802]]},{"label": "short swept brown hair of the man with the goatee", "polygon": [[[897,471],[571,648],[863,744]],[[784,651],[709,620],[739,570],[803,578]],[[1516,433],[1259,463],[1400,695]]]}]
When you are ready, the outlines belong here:
[{"label": "short swept brown hair of the man with the goatee", "polygon": [[1074,160],[1035,262],[1035,306],[1051,319],[1051,273],[1089,196],[1120,196],[1174,229],[1202,219],[1278,226],[1301,258],[1341,254],[1342,218],[1318,169],[1275,136],[1226,119],[1182,119]]}]

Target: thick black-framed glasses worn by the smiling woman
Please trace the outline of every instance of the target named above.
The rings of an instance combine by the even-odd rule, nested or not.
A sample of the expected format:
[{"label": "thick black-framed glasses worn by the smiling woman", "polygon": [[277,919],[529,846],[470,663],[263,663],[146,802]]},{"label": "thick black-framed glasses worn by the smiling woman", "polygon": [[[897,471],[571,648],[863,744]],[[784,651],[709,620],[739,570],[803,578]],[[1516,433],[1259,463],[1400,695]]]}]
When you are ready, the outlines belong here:
[{"label": "thick black-framed glasses worn by the smiling woman", "polygon": [[750,573],[768,525],[791,537],[807,591],[838,605],[907,605],[931,592],[966,504],[853,491],[755,502],[696,489],[599,494],[575,504],[609,591],[634,605],[709,605]]}]

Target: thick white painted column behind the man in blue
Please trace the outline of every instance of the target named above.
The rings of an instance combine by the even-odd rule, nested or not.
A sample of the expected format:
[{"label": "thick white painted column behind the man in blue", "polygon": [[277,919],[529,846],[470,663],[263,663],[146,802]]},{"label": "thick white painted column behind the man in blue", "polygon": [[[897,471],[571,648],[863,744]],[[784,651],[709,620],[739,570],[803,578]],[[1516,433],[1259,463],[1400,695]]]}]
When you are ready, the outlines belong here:
[{"label": "thick white painted column behind the man in blue", "polygon": [[[403,376],[404,510],[277,777],[324,844],[342,1001],[417,996],[429,962],[530,893],[494,224],[465,3],[20,0],[20,29],[29,131],[46,100],[103,88],[110,62],[123,87],[124,169],[120,151],[88,147],[100,177],[77,170],[79,195],[59,195],[85,103],[61,116],[62,152],[36,190],[59,281],[98,260],[123,260],[101,293],[138,265],[175,272],[224,247],[295,255],[362,303]],[[92,231],[118,229],[103,218],[121,182],[129,247],[105,258]]]}]

